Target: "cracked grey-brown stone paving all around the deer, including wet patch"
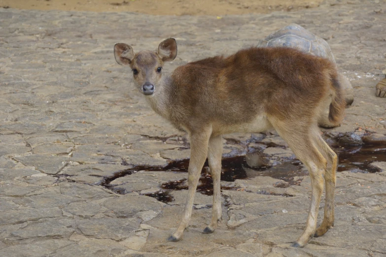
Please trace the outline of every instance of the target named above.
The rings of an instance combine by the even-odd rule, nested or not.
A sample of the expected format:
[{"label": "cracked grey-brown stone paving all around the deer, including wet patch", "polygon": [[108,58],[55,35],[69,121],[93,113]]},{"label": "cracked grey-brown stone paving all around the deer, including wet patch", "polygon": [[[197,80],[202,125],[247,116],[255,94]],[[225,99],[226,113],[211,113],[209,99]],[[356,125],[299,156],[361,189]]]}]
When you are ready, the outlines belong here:
[{"label": "cracked grey-brown stone paving all around the deer, including wet patch", "polygon": [[[385,11],[377,0],[221,19],[0,9],[0,256],[386,255],[386,101],[375,96]],[[166,242],[183,209],[189,141],[147,107],[130,71],[115,63],[114,43],[136,51],[175,37],[167,71],[289,23],[326,39],[354,87],[342,126],[324,133],[341,159],[335,227],[303,249],[289,247],[306,221],[307,172],[274,131],[232,134],[224,158],[246,155],[229,162],[244,175],[222,181],[219,228],[201,233],[211,217],[204,174],[189,231]],[[256,163],[274,166],[259,171]]]}]

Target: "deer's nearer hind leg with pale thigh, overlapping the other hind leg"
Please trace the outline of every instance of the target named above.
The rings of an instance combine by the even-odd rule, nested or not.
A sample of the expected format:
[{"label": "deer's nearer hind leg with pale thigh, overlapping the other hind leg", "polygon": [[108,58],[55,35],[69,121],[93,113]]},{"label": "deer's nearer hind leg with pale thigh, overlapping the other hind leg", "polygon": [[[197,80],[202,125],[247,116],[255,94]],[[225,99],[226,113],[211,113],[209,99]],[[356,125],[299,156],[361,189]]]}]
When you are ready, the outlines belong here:
[{"label": "deer's nearer hind leg with pale thigh, overlapping the other hind leg", "polygon": [[271,121],[271,123],[288,143],[296,157],[307,166],[310,173],[312,197],[306,227],[300,237],[291,245],[293,247],[303,247],[316,231],[317,214],[323,192],[323,176],[327,161],[314,143],[315,132],[313,130],[317,129],[316,124],[310,127],[309,122],[302,124],[302,121],[291,122],[289,120]]}]

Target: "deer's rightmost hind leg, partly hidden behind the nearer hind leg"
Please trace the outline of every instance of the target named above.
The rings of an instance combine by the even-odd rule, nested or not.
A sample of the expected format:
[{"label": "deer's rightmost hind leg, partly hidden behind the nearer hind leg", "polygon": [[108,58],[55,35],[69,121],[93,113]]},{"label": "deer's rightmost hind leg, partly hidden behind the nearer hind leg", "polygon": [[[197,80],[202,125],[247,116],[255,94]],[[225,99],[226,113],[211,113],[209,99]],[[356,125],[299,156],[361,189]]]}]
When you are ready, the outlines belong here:
[{"label": "deer's rightmost hind leg, partly hidden behind the nearer hind leg", "polygon": [[334,225],[334,193],[336,183],[336,166],[338,157],[334,151],[324,142],[319,133],[315,135],[315,144],[321,154],[327,160],[326,173],[324,181],[326,184],[326,200],[324,203],[324,218],[322,224],[316,229],[315,237],[323,235],[327,230]]}]

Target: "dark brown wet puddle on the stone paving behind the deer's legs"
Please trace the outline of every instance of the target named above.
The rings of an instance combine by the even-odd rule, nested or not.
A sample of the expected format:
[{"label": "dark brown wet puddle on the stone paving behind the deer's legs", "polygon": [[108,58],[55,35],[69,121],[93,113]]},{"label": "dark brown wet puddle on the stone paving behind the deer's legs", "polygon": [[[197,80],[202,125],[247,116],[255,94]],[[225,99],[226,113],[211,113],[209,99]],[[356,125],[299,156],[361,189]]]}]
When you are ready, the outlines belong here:
[{"label": "dark brown wet puddle on the stone paving behind the deer's legs", "polygon": [[[332,145],[333,150],[338,154],[339,164],[338,171],[351,170],[351,172],[372,173],[379,172],[376,167],[369,165],[373,161],[386,161],[386,145],[370,145],[364,144],[361,146],[339,146]],[[246,179],[257,176],[269,176],[282,180],[284,182],[275,183],[273,186],[277,188],[287,188],[291,185],[300,185],[305,175],[308,175],[307,169],[300,165],[298,160],[285,161],[275,166],[267,166],[265,163],[267,158],[256,151],[248,153],[246,156],[235,156],[222,159],[221,180],[233,182],[236,179]],[[122,164],[125,164],[124,162]],[[154,166],[138,166],[132,169],[116,173],[114,177],[106,178],[102,185],[116,193],[126,193],[120,190],[112,189],[109,183],[119,177],[130,175],[135,171],[176,171],[187,172],[189,160],[172,161],[166,167]],[[212,178],[209,173],[208,161],[206,161],[201,172],[200,182],[197,187],[197,192],[207,195],[213,194]],[[231,185],[231,183],[230,183]],[[170,181],[162,184],[161,190],[158,193],[149,193],[148,196],[154,197],[162,202],[173,201],[173,196],[170,194],[173,190],[187,190],[187,181]],[[222,190],[237,190],[237,188],[221,187]],[[273,194],[272,192],[262,192],[263,194]],[[284,195],[291,196],[291,195]]]}]

